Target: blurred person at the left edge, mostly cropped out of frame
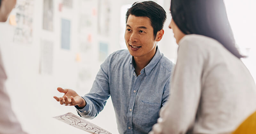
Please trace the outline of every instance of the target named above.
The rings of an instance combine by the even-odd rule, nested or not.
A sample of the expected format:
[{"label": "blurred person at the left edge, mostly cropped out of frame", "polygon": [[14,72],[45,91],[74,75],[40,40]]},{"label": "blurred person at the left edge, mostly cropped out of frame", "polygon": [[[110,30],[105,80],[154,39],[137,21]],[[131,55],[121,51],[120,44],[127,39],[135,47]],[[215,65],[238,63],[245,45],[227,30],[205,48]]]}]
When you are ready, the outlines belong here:
[{"label": "blurred person at the left edge, mostly cropped out of frame", "polygon": [[[15,4],[16,0],[0,0],[0,22],[7,20]],[[0,54],[0,134],[25,134],[12,111],[10,99],[5,91],[6,78]]]}]

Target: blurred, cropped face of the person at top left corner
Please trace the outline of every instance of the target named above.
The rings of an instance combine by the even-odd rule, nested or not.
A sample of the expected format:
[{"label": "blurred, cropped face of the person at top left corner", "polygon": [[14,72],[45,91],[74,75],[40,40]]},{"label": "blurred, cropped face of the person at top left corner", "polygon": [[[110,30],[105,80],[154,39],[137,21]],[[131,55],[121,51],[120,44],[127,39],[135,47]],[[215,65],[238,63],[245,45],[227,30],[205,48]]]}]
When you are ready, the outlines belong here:
[{"label": "blurred, cropped face of the person at top left corner", "polygon": [[0,22],[5,22],[14,8],[16,0],[2,0],[0,7]]}]

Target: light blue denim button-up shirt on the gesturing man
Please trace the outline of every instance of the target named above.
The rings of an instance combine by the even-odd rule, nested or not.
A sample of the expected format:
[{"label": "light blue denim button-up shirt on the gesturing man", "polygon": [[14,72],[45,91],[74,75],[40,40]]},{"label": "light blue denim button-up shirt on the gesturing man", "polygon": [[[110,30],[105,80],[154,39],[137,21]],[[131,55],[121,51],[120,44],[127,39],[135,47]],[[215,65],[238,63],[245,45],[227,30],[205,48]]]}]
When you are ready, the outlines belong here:
[{"label": "light blue denim button-up shirt on the gesturing man", "polygon": [[133,60],[128,50],[108,56],[90,93],[83,97],[87,104],[77,110],[80,116],[94,118],[111,96],[119,133],[144,134],[152,129],[169,97],[173,63],[156,48],[155,56],[137,77]]}]

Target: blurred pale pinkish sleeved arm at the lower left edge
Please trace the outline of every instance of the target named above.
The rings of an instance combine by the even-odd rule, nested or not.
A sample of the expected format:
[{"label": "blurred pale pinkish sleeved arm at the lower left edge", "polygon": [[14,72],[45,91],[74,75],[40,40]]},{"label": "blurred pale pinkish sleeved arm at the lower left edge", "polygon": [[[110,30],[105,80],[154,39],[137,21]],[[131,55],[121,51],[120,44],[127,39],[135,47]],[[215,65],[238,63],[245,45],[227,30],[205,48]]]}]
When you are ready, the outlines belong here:
[{"label": "blurred pale pinkish sleeved arm at the lower left edge", "polygon": [[25,134],[12,111],[10,98],[5,91],[6,78],[0,54],[0,134]]}]

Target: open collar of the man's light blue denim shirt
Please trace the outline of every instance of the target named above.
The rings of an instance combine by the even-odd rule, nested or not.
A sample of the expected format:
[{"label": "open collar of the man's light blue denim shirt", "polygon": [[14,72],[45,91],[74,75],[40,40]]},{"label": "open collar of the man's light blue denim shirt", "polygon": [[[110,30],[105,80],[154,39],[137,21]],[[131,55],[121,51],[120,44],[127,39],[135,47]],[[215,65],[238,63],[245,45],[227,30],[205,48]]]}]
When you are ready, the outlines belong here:
[{"label": "open collar of the man's light blue denim shirt", "polygon": [[[145,70],[146,75],[148,75],[152,71],[152,69],[156,66],[156,64],[160,61],[161,58],[162,58],[162,54],[161,54],[160,50],[158,49],[158,46],[156,46],[156,54],[151,59],[151,61],[148,63],[148,65],[140,71],[140,73],[143,70]],[[134,64],[134,59],[133,59],[133,56],[131,55],[130,65],[131,65],[131,68],[133,70],[135,70],[133,64]]]}]

